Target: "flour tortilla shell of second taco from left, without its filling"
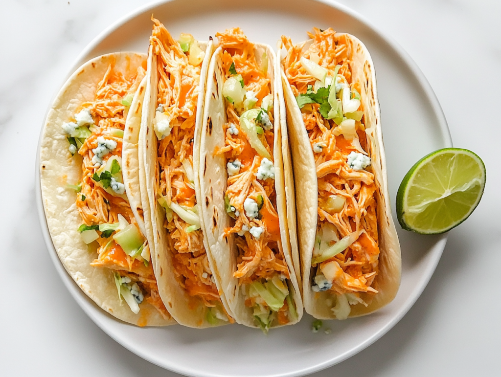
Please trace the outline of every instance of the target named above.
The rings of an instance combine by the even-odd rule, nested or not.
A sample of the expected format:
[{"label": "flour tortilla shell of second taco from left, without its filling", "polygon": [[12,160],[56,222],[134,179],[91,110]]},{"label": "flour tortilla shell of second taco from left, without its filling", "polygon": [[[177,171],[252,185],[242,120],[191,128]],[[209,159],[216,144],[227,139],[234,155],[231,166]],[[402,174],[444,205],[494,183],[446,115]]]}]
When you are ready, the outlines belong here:
[{"label": "flour tortilla shell of second taco from left, without its filling", "polygon": [[[193,168],[197,164],[199,149],[196,147],[200,137],[199,120],[203,113],[203,93],[205,92],[205,81],[207,68],[212,55],[212,40],[198,42],[205,56],[202,61],[200,71],[199,97],[196,110],[195,137],[193,141]],[[151,219],[146,222],[146,234],[150,243],[150,252],[154,263],[155,275],[158,280],[158,289],[162,300],[165,302],[167,310],[182,325],[189,327],[212,327],[207,321],[207,307],[199,298],[190,296],[175,278],[175,269],[172,264],[174,253],[174,242],[167,229],[163,226],[165,222],[164,209],[157,202],[157,188],[159,187],[159,166],[157,161],[157,138],[153,129],[153,119],[155,118],[157,103],[157,60],[153,55],[150,46],[148,52],[148,76],[146,87],[145,105],[143,107],[143,117],[140,131],[139,153],[144,164],[144,177],[141,179],[141,193],[143,195],[143,210],[145,218]],[[199,143],[198,143],[199,144]],[[198,177],[195,174],[195,192],[197,203],[200,202]],[[143,190],[144,187],[144,190]],[[202,229],[203,231],[203,229]],[[152,248],[153,245],[153,248]],[[204,239],[205,249],[208,249]],[[210,259],[209,259],[210,264]],[[213,271],[213,266],[210,264]],[[224,301],[223,301],[224,305]],[[222,308],[221,308],[222,309]],[[217,320],[216,325],[229,323],[228,321]]]}]

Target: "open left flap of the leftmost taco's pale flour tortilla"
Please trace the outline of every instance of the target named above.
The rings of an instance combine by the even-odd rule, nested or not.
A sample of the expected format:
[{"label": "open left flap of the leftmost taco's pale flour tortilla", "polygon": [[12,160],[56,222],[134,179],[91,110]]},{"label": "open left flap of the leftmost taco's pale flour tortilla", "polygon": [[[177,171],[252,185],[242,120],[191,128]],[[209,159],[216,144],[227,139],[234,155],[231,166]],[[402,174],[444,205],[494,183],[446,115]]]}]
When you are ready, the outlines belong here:
[{"label": "open left flap of the leftmost taco's pale flour tortilla", "polygon": [[[67,184],[81,181],[82,158],[78,154],[72,156],[68,151],[67,135],[61,128],[64,122],[73,118],[82,103],[94,99],[97,84],[110,64],[114,64],[115,70],[127,74],[135,72],[145,59],[145,54],[132,52],[103,55],[82,65],[68,79],[54,100],[42,133],[40,183],[54,248],[66,271],[82,291],[103,310],[124,322],[162,326],[175,322],[164,319],[146,301],[139,305],[139,313],[134,314],[125,302],[120,303],[113,271],[90,265],[97,257],[96,249],[90,249],[82,241],[77,231],[82,218],[75,205],[76,195],[73,190],[65,188]],[[135,103],[140,102],[136,100]],[[130,111],[134,111],[132,106]],[[133,174],[129,176],[130,181],[137,181]]]}]

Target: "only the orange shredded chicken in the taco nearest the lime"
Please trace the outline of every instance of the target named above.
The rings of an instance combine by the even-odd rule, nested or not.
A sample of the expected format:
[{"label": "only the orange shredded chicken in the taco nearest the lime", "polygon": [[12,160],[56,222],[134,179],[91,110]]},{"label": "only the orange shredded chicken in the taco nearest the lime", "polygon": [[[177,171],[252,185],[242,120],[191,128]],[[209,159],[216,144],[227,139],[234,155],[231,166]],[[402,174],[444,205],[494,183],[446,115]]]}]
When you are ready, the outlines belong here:
[{"label": "only the orange shredded chicken in the taco nearest the lime", "polygon": [[[301,57],[326,68],[327,76],[331,77],[335,67],[339,65],[338,80],[348,85],[352,92],[360,92],[360,83],[352,81],[351,46],[346,37],[336,34],[332,29],[314,29],[309,36],[313,43],[306,50],[303,50],[304,44],[293,45],[290,38],[282,37],[287,50],[283,68],[294,95],[298,97],[311,91],[312,87],[309,86],[314,86],[316,82],[302,66]],[[346,86],[344,88],[348,90]],[[324,267],[330,264],[335,274],[329,291],[336,294],[354,293],[357,297],[358,292],[377,293],[373,286],[378,273],[379,256],[374,174],[370,166],[355,170],[347,162],[348,155],[352,152],[367,155],[368,141],[364,119],[356,121],[356,135],[345,138],[344,134],[338,132],[339,127],[334,120],[328,120],[321,115],[320,106],[312,103],[301,109],[304,125],[314,149],[317,169],[317,234],[322,230],[325,233],[325,229],[333,225],[338,239],[354,232],[359,236],[346,250],[317,264],[314,276],[321,274]],[[363,110],[363,104],[358,110]],[[320,146],[322,150],[315,150],[315,146]],[[330,198],[336,198],[338,203],[341,200],[344,204],[341,204],[341,208],[332,208],[328,205]],[[318,238],[317,241],[320,242]],[[335,239],[331,240],[328,246],[335,242]]]}]

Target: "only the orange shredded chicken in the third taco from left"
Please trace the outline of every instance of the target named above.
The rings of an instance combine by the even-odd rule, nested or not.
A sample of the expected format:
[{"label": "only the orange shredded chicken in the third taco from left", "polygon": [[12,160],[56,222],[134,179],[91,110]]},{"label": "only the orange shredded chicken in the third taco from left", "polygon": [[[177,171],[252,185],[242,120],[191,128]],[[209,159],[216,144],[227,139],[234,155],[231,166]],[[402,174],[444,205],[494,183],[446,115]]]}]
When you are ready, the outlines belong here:
[{"label": "only the orange shredded chicken in the third taco from left", "polygon": [[[230,70],[234,68],[243,79],[244,88],[252,91],[257,98],[255,108],[260,108],[263,100],[271,93],[271,82],[262,66],[257,62],[255,46],[239,28],[217,33],[219,46],[223,49],[222,65],[225,80],[234,75]],[[281,279],[290,279],[289,268],[285,261],[281,247],[279,218],[277,213],[277,193],[275,179],[258,179],[257,173],[264,157],[250,144],[248,135],[240,127],[240,116],[244,112],[241,106],[225,101],[227,121],[224,125],[225,146],[215,151],[223,154],[226,162],[238,160],[241,163],[235,175],[228,174],[225,195],[228,204],[232,207],[232,227],[226,229],[225,234],[234,234],[238,248],[237,269],[233,276],[238,278],[239,285],[247,285],[256,281],[268,281],[278,275]],[[273,111],[269,109],[268,117],[273,124]],[[238,130],[235,133],[234,128]],[[273,158],[274,129],[264,129],[259,136],[262,144]],[[259,215],[250,218],[246,214],[244,202],[253,199],[260,203]],[[256,237],[249,229],[260,227],[263,233]],[[279,246],[280,245],[280,246]],[[258,303],[266,304],[260,297],[248,296],[245,305],[253,307]],[[288,304],[277,312],[279,324],[290,321]]]}]

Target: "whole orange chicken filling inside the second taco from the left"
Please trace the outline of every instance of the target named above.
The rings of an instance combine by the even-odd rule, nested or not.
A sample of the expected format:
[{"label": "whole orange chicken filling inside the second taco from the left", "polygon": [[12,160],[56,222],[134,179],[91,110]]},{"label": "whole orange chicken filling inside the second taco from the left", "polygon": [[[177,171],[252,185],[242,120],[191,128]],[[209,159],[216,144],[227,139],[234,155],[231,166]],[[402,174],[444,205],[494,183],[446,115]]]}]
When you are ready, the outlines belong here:
[{"label": "whole orange chicken filling inside the second taco from the left", "polygon": [[193,139],[204,52],[189,34],[175,41],[158,21],[150,37],[157,59],[158,93],[153,129],[158,139],[157,201],[165,209],[177,281],[209,308],[206,318],[227,321],[203,244],[195,197]]}]

